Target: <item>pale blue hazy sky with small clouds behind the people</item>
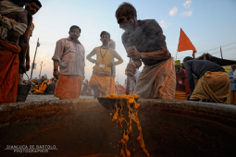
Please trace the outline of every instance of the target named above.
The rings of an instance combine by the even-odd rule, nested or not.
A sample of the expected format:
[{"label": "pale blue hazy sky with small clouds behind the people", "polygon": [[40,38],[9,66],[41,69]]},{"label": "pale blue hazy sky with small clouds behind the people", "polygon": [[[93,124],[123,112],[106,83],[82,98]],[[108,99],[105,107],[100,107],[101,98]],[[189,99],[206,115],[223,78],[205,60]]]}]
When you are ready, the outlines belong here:
[{"label": "pale blue hazy sky with small clouds behind the people", "polygon": [[[100,46],[100,33],[105,30],[116,42],[116,51],[124,62],[116,67],[116,81],[121,84],[126,78],[124,70],[128,63],[126,51],[121,42],[124,32],[116,22],[115,11],[121,0],[41,0],[43,7],[34,15],[35,30],[30,40],[31,62],[39,38],[40,47],[36,55],[37,67],[33,78],[42,74],[52,77],[52,56],[56,41],[68,37],[71,25],[81,29],[80,42],[85,47],[85,55]],[[137,10],[138,19],[155,19],[166,36],[167,47],[176,57],[180,28],[190,38],[197,49],[196,56],[204,52],[220,57],[222,46],[225,59],[236,60],[236,1],[235,0],[129,0]],[[191,56],[191,51],[178,53],[178,59]],[[86,56],[85,56],[86,57]],[[93,64],[86,60],[85,77],[90,80]],[[31,70],[30,70],[31,71]],[[28,72],[30,74],[30,72]]]}]

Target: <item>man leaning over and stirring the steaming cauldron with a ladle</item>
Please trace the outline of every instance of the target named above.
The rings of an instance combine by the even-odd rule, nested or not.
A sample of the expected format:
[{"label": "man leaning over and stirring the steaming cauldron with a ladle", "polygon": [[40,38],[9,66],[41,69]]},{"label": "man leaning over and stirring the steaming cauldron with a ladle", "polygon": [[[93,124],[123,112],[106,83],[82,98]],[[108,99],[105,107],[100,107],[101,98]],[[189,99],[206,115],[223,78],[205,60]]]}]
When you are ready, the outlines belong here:
[{"label": "man leaning over and stirring the steaming cauldron with a ladle", "polygon": [[144,68],[134,94],[146,99],[174,99],[174,60],[168,51],[162,28],[156,20],[137,20],[134,6],[124,2],[116,10],[116,19],[121,29],[122,43],[128,57],[133,59],[126,68],[126,75],[133,76],[136,68]]}]

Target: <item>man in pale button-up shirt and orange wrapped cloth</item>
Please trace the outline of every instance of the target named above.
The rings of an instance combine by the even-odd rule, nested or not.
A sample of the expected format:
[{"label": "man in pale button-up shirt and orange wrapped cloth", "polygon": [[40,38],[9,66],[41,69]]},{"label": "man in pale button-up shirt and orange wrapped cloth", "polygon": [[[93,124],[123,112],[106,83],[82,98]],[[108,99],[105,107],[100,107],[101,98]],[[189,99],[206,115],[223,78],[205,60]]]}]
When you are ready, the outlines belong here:
[{"label": "man in pale button-up shirt and orange wrapped cloth", "polygon": [[[77,99],[84,80],[85,50],[78,38],[81,29],[73,25],[69,37],[57,41],[52,60],[53,75],[58,79],[54,96],[60,99]],[[60,66],[60,73],[58,67]]]}]

